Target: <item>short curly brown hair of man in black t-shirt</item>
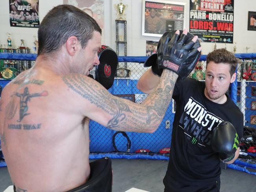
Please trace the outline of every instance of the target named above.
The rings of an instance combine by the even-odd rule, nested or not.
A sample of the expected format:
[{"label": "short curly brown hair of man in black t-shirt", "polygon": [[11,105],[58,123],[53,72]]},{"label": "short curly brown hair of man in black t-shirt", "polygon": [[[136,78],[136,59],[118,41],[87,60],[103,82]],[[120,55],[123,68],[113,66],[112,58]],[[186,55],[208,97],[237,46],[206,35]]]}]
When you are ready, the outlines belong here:
[{"label": "short curly brown hair of man in black t-shirt", "polygon": [[224,63],[230,66],[229,72],[230,76],[236,72],[237,63],[240,63],[239,59],[235,57],[235,55],[228,50],[222,48],[214,50],[210,52],[206,57],[206,68],[210,61],[214,63]]}]

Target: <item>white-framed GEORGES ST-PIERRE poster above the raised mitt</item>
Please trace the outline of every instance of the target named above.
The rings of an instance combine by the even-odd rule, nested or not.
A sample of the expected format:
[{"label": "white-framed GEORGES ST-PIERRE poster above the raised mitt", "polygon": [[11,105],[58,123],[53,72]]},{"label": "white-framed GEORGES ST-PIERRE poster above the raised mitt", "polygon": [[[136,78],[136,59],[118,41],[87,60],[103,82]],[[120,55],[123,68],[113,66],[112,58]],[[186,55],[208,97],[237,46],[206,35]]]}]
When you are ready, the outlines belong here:
[{"label": "white-framed GEORGES ST-PIERRE poster above the raised mitt", "polygon": [[165,31],[183,30],[185,5],[184,2],[143,0],[142,35],[161,37]]}]

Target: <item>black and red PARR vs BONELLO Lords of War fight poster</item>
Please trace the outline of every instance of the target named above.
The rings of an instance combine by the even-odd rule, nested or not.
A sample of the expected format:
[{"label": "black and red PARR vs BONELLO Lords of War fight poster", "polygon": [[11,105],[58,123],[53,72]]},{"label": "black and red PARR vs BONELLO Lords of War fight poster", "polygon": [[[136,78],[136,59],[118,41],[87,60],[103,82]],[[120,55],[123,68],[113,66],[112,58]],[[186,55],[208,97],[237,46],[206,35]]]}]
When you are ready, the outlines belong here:
[{"label": "black and red PARR vs BONELLO Lords of War fight poster", "polygon": [[234,0],[190,0],[189,31],[202,42],[233,43]]}]

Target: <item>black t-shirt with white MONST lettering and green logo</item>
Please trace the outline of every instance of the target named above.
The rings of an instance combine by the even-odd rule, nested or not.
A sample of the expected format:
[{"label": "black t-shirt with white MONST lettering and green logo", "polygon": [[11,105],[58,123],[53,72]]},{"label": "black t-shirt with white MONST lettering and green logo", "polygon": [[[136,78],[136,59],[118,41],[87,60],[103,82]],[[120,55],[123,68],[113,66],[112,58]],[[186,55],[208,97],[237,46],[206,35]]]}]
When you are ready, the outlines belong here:
[{"label": "black t-shirt with white MONST lettering and green logo", "polygon": [[219,156],[211,149],[214,127],[228,121],[239,138],[243,134],[243,114],[230,97],[223,104],[214,103],[204,89],[204,82],[191,78],[178,79],[174,87],[176,113],[166,174],[184,185],[207,185],[219,179]]}]

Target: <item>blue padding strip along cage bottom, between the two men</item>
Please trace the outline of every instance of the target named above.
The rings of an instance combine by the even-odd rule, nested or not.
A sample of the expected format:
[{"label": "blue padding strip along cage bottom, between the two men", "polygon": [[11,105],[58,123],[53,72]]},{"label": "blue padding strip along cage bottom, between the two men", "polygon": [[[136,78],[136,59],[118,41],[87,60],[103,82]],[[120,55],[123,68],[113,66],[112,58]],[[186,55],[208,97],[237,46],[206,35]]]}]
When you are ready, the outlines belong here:
[{"label": "blue padding strip along cage bottom, between the two men", "polygon": [[100,159],[102,157],[109,157],[110,159],[155,159],[155,160],[169,160],[168,156],[163,155],[148,155],[148,154],[127,154],[127,153],[96,153],[90,154],[89,159]]}]

